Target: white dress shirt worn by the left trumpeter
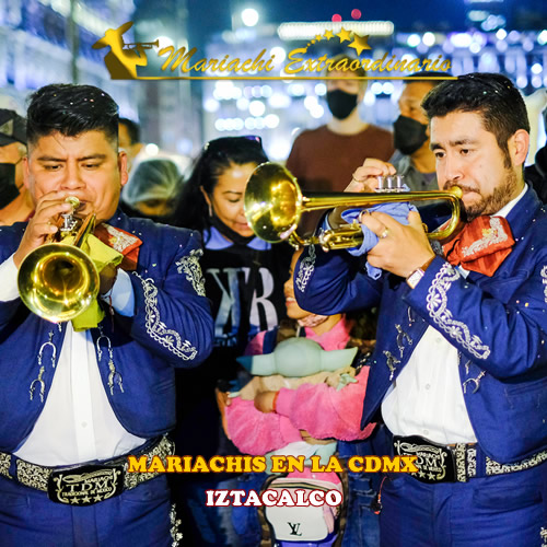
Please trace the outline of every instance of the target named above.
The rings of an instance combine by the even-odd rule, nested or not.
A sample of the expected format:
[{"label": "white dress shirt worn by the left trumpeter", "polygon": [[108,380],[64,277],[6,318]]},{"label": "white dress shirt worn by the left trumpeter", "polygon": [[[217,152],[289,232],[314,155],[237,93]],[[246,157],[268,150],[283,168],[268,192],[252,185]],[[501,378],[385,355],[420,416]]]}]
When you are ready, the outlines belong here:
[{"label": "white dress shirt worn by the left trumpeter", "polygon": [[[16,278],[18,269],[11,256],[0,265],[0,301],[19,298]],[[120,315],[133,315],[131,281],[121,269],[118,269],[110,298],[112,306]],[[51,323],[54,328],[58,327]],[[102,349],[107,351],[103,345]],[[38,350],[36,348],[36,357]],[[60,466],[108,459],[142,445],[147,440],[129,433],[114,414],[101,380],[90,330],[77,333],[69,322],[59,350],[55,375],[50,352],[47,352],[43,364],[47,371],[45,381],[53,379],[49,394],[33,430],[14,454],[34,464]],[[106,366],[104,358],[101,366]],[[33,380],[28,379],[28,385]],[[124,396],[117,384],[114,394]]]}]

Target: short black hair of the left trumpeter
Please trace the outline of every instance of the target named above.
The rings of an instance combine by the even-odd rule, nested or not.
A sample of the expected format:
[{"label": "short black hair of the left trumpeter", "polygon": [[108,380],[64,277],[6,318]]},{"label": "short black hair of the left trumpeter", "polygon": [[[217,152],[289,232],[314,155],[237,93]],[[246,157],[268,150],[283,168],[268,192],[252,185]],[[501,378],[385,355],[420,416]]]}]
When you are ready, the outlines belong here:
[{"label": "short black hair of the left trumpeter", "polygon": [[117,148],[118,105],[108,93],[94,85],[56,83],[45,85],[30,96],[28,143],[53,132],[77,137],[86,131],[103,131]]}]

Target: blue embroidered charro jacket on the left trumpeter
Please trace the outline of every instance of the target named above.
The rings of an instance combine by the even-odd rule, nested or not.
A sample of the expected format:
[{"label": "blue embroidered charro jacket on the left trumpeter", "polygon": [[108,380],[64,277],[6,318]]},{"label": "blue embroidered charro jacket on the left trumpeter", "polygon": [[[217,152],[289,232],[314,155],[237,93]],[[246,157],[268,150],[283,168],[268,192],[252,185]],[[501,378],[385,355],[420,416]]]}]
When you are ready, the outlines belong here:
[{"label": "blue embroidered charro jacket on the left trumpeter", "polygon": [[[175,426],[174,368],[196,366],[212,348],[212,317],[205,296],[197,232],[130,219],[119,210],[108,221],[142,240],[136,272],[130,274],[135,316],[108,313],[91,329],[97,363],[114,414],[132,434],[151,439]],[[26,223],[0,228],[0,263],[18,248]],[[66,324],[55,325],[30,312],[20,299],[0,302],[0,450],[14,452],[26,439],[49,393]],[[45,396],[30,386],[38,376],[43,349]],[[109,379],[112,361],[119,376]],[[121,387],[118,383],[121,380]],[[110,380],[110,384],[108,381]]]}]

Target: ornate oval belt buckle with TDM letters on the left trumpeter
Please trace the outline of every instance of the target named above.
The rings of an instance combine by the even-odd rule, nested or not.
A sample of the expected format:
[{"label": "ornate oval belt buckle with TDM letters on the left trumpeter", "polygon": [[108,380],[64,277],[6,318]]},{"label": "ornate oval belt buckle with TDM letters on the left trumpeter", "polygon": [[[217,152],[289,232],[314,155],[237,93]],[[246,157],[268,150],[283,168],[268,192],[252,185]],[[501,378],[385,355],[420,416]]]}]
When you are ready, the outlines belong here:
[{"label": "ornate oval belt buckle with TDM letters on the left trumpeter", "polygon": [[47,485],[48,498],[68,505],[93,505],[120,494],[123,490],[121,466],[83,465],[59,469],[51,473]]}]

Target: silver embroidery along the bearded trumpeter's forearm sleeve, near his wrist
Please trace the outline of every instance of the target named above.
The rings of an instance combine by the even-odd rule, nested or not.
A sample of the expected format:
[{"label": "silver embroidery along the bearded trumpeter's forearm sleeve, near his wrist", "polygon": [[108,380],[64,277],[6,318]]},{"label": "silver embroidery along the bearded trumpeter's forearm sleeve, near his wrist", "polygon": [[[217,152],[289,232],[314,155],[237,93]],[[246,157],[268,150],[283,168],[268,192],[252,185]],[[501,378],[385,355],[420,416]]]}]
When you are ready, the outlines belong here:
[{"label": "silver embroidery along the bearded trumpeter's forearm sleeve, near his wrist", "polygon": [[482,340],[469,333],[467,325],[454,321],[446,307],[447,292],[452,283],[459,278],[459,272],[450,264],[445,264],[437,274],[427,296],[427,309],[431,318],[451,337],[461,344],[467,351],[478,359],[487,359],[490,348]]}]

